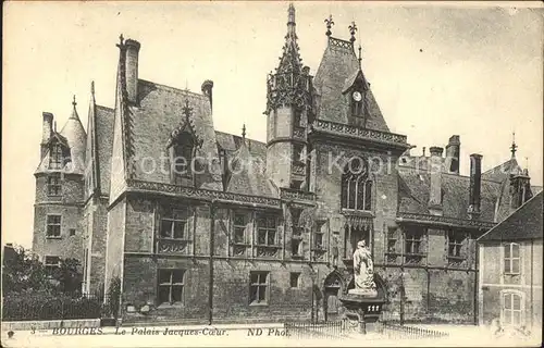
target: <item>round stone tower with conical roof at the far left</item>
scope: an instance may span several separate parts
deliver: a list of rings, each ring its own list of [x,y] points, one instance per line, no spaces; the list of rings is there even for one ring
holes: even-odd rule
[[[60,259],[82,262],[83,232],[79,225],[84,201],[84,166],[86,134],[76,110],[62,130],[57,132],[54,115],[44,113],[41,161],[34,173],[36,196],[33,251],[48,266]]]

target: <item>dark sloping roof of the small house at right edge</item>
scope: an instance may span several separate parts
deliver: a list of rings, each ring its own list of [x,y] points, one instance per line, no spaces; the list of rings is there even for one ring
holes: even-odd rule
[[[535,195],[478,241],[543,239],[542,196],[542,191]]]

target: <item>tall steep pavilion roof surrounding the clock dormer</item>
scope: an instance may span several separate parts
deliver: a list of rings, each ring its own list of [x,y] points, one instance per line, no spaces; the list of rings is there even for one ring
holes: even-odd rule
[[[349,97],[344,96],[343,91],[353,85],[359,70],[359,61],[353,44],[330,37],[313,79],[319,100],[318,119],[358,125],[358,120],[348,114]],[[364,74],[362,72],[361,74],[364,78]],[[390,132],[370,87],[366,98],[369,110],[369,120],[366,126],[371,129]]]

